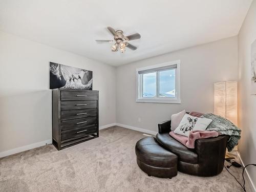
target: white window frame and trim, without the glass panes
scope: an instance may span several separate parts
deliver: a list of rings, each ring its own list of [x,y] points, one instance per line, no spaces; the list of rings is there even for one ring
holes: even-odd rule
[[[159,97],[159,77],[157,73],[156,79],[156,94],[157,97],[143,97],[143,77],[139,74],[139,71],[157,69],[160,67],[177,65],[175,74],[175,97]],[[153,102],[153,103],[181,103],[180,100],[180,60],[164,62],[154,66],[147,66],[136,69],[136,102]]]

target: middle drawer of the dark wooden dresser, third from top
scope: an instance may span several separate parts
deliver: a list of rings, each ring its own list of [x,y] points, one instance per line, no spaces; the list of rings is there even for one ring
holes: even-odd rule
[[[61,111],[61,121],[70,119],[80,119],[85,117],[97,116],[97,108],[85,110]]]

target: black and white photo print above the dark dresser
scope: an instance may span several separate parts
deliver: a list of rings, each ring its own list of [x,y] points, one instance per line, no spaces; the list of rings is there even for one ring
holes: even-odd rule
[[[50,89],[93,89],[93,72],[50,62]]]

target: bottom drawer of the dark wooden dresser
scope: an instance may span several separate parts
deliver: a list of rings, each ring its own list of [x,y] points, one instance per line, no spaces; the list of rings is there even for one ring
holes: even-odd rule
[[[71,138],[77,139],[95,132],[97,132],[96,125],[83,126],[72,130],[61,131],[61,141],[65,141]]]

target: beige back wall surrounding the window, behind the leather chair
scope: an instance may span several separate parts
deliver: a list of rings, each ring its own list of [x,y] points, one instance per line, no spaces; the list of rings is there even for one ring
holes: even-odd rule
[[[230,37],[118,67],[117,123],[156,132],[159,122],[181,110],[214,112],[214,82],[238,79],[237,43],[237,36]],[[136,68],[178,59],[181,60],[181,104],[135,102]]]

